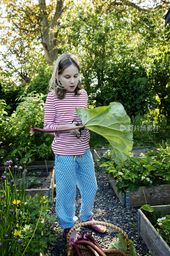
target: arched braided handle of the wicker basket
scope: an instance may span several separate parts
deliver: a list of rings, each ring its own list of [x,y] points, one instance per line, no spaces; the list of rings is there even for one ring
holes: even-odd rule
[[[130,253],[130,241],[129,241],[128,235],[124,232],[124,230],[122,228],[119,228],[119,227],[113,225],[113,224],[110,224],[110,223],[107,223],[107,222],[103,222],[103,221],[96,221],[96,220],[94,220],[94,221],[85,221],[85,222],[78,223],[73,228],[70,229],[70,231],[68,233],[68,236],[67,236],[67,251],[69,250],[69,247],[70,247],[69,239],[70,239],[71,233],[74,231],[74,229],[80,228],[80,227],[85,226],[85,225],[103,225],[103,226],[106,226],[108,228],[116,229],[118,232],[120,232],[124,236],[124,238],[127,241],[126,256],[129,256],[129,253]]]

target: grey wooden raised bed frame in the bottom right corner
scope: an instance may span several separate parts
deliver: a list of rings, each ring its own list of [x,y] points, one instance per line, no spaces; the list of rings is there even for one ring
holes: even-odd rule
[[[163,216],[170,213],[170,204],[152,207],[154,211],[162,211]],[[153,256],[170,256],[170,247],[152,226],[141,209],[138,209],[138,233]]]

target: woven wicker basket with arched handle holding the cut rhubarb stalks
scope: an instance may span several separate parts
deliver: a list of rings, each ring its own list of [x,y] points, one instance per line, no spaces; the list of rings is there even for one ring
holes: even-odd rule
[[[125,239],[127,241],[127,251],[124,252],[123,250],[120,250],[120,249],[103,249],[103,251],[105,252],[105,254],[107,256],[129,256],[130,241],[129,241],[127,234],[121,228],[119,228],[115,225],[112,225],[110,223],[107,223],[107,222],[102,222],[102,221],[81,222],[81,223],[78,223],[77,225],[75,225],[72,229],[70,229],[68,236],[67,236],[67,256],[77,256],[77,254],[74,250],[74,247],[70,246],[70,244],[69,244],[69,238],[74,229],[80,228],[84,225],[103,225],[103,226],[113,228],[113,229],[116,229],[117,231],[119,231],[125,237]],[[79,248],[79,251],[82,256],[93,256],[93,254],[89,251],[89,249],[86,248],[84,245],[77,244],[77,247]]]

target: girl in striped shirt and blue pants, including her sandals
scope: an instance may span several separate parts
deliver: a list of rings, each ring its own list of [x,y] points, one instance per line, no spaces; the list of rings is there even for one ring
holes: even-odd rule
[[[44,129],[62,129],[75,127],[80,117],[75,107],[87,108],[87,92],[81,89],[79,79],[80,64],[73,54],[63,54],[55,62],[52,78],[49,82],[50,91],[45,103]],[[76,185],[81,192],[80,220],[90,221],[92,207],[97,190],[93,158],[89,149],[89,131],[84,128],[67,132],[55,132],[52,150],[55,154],[56,180],[56,214],[64,236],[78,218],[75,216]],[[90,225],[100,233],[106,227]],[[74,231],[70,242],[76,237]]]

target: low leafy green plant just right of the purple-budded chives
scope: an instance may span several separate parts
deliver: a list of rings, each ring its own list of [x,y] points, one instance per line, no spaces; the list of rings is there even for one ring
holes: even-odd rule
[[[24,226],[23,232],[20,236],[24,241],[23,249],[25,249],[26,245],[28,244],[36,227],[41,204],[43,206],[41,214],[45,218],[46,223],[45,224],[44,222],[39,221],[39,226],[36,229],[36,233],[34,234],[32,241],[26,250],[26,255],[28,256],[32,256],[32,254],[34,254],[35,252],[44,253],[48,247],[48,244],[53,244],[53,242],[56,240],[50,228],[50,222],[55,221],[56,217],[48,214],[49,202],[46,197],[47,196],[39,197],[38,195],[36,195],[35,197],[30,198],[30,200],[25,204],[23,218],[27,225]],[[41,220],[42,219],[43,218],[41,218]]]

